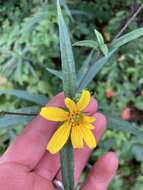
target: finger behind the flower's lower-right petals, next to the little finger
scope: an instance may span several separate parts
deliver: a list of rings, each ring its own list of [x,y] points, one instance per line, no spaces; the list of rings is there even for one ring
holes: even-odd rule
[[[97,112],[96,114],[93,115],[96,118],[96,121],[94,122],[94,125],[96,126],[94,132],[95,138],[97,140],[97,143],[99,142],[104,129],[106,127],[106,118],[103,114]],[[75,184],[78,183],[80,175],[82,170],[84,169],[89,156],[91,154],[92,150],[89,149],[88,147],[85,147],[83,149],[76,149],[75,150],[75,169],[74,169],[74,178],[75,178]],[[61,180],[61,173],[59,173],[56,176],[57,179]]]

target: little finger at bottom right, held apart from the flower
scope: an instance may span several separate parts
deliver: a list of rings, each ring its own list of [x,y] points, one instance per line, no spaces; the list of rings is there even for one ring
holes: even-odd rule
[[[102,156],[91,169],[82,190],[96,189],[107,190],[118,167],[117,155],[108,152]]]

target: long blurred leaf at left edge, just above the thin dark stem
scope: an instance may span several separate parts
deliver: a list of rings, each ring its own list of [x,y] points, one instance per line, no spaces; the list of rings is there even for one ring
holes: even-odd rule
[[[48,102],[48,98],[44,95],[32,94],[25,90],[0,90],[0,95],[8,94],[18,98],[34,102],[39,105],[45,105]]]

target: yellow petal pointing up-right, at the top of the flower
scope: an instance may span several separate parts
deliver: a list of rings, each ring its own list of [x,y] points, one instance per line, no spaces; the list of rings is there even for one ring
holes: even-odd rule
[[[77,102],[77,107],[80,111],[85,109],[90,102],[90,93],[88,90],[83,90],[80,100]]]

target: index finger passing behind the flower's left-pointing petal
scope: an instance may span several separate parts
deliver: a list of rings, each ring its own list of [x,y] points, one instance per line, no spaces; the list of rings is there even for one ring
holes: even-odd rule
[[[55,96],[48,103],[48,106],[65,107],[64,94],[60,93]],[[47,121],[38,115],[11,144],[1,158],[0,163],[18,162],[27,166],[30,170],[35,168],[46,152],[47,142],[56,128],[56,122]]]

